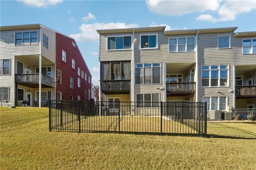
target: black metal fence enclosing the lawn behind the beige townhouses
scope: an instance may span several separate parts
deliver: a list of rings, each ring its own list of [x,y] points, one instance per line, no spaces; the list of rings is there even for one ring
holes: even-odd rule
[[[206,103],[49,101],[49,131],[206,135]]]

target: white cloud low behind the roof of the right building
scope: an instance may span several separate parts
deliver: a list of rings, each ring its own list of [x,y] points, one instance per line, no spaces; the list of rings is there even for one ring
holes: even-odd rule
[[[136,28],[137,24],[126,25],[125,23],[94,23],[94,24],[82,24],[79,26],[81,33],[70,34],[69,36],[76,41],[82,42],[98,42],[99,35],[96,30],[118,29],[118,28]]]

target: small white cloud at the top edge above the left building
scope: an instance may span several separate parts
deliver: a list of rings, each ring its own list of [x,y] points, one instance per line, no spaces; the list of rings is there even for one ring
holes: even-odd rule
[[[63,0],[18,0],[27,6],[35,6],[38,8],[47,8],[48,6],[54,6],[61,3]]]

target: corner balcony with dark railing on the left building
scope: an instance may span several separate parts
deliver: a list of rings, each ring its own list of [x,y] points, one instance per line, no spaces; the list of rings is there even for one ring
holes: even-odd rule
[[[15,74],[15,83],[26,87],[39,88],[39,73]],[[42,74],[42,88],[48,87],[55,87],[55,79]]]

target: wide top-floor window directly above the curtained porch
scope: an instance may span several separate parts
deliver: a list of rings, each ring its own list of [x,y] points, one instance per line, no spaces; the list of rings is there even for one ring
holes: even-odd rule
[[[131,49],[132,36],[108,37],[108,49]]]

